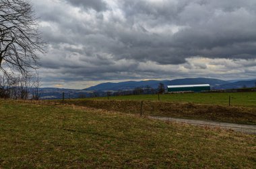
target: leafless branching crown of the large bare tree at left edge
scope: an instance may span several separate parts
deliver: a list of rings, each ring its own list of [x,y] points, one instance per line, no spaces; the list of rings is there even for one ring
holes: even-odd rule
[[[0,68],[27,73],[38,66],[45,43],[28,0],[0,0]]]

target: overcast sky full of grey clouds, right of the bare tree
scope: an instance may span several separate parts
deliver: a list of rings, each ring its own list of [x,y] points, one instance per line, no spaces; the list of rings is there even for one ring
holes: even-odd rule
[[[42,87],[255,79],[255,0],[30,0],[49,43]]]

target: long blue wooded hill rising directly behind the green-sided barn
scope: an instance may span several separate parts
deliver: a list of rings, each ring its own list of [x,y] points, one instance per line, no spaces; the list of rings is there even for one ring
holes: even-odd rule
[[[189,85],[189,84],[210,84],[210,86],[220,86],[229,81],[212,78],[186,78],[186,79],[174,79],[174,80],[148,80],[148,81],[123,81],[119,83],[100,83],[96,86],[86,88],[85,90],[96,91],[118,91],[118,90],[133,90],[137,87],[150,86],[151,88],[158,88],[159,83],[164,83],[164,86],[168,85]]]

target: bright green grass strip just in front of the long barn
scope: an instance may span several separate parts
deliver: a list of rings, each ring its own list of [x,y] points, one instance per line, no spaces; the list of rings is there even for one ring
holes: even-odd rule
[[[199,104],[228,105],[231,96],[232,106],[256,107],[256,92],[238,93],[195,93],[195,94],[161,94],[160,100],[165,102],[192,102]],[[158,95],[110,96],[110,100],[158,100]],[[107,98],[92,98],[106,100]]]

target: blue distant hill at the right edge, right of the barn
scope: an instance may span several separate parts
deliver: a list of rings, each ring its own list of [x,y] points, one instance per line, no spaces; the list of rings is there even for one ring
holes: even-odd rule
[[[238,89],[238,88],[253,88],[255,87],[256,79],[248,80],[248,81],[235,81],[233,83],[226,83],[220,86],[215,86],[214,89],[221,90],[221,89]]]

